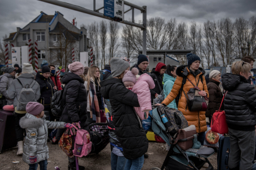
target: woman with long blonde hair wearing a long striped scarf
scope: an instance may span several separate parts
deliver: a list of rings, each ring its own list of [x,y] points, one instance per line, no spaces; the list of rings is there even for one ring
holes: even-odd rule
[[[100,69],[93,65],[89,68],[84,86],[88,91],[87,95],[87,114],[88,124],[106,122],[104,116],[104,103],[100,94]]]

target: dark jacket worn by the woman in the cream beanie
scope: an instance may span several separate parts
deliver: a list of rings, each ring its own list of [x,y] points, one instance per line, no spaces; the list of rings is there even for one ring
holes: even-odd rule
[[[209,91],[209,104],[206,111],[206,116],[212,116],[216,110],[219,110],[219,106],[221,106],[221,101],[223,99],[223,94],[221,93],[221,88],[219,88],[218,82],[214,79],[210,79],[207,84],[207,89]],[[221,110],[223,110],[223,105],[221,106]]]

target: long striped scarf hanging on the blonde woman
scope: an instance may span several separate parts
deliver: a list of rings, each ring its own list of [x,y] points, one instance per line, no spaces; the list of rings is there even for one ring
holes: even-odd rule
[[[98,98],[96,96],[95,85],[90,82],[89,87],[89,99],[90,99],[90,115],[96,123],[100,123],[100,106],[98,105]]]

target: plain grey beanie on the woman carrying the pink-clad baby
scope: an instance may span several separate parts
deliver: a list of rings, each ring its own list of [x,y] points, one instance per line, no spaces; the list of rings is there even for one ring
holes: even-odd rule
[[[130,67],[130,64],[125,60],[119,58],[112,58],[110,60],[110,67],[112,77],[117,77],[122,74],[128,67]]]

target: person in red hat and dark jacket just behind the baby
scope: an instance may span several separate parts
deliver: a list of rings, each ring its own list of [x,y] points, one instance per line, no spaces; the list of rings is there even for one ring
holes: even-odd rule
[[[163,90],[163,74],[165,74],[167,67],[162,62],[158,62],[156,68],[151,71],[150,76],[154,81],[154,89],[150,89],[151,93],[151,103],[153,104],[153,99],[156,98]]]

